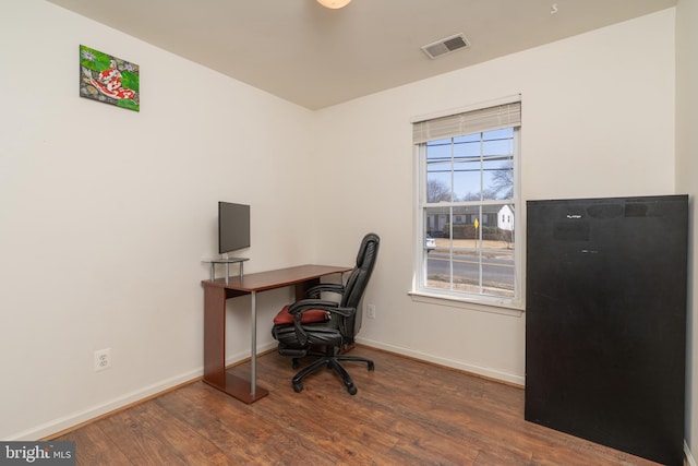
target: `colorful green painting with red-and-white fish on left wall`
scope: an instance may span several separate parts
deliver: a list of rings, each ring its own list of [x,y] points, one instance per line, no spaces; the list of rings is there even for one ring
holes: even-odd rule
[[[80,46],[80,96],[141,110],[137,64]]]

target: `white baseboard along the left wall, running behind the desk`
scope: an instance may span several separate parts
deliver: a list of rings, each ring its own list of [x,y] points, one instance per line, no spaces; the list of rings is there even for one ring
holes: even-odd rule
[[[264,353],[276,347],[277,343],[272,342],[264,345],[260,345],[257,347],[258,353]],[[241,351],[236,355],[229,356],[226,358],[226,366],[234,365],[250,357],[250,351]],[[104,416],[108,413],[122,408],[124,406],[141,402],[143,399],[149,398],[158,393],[166,392],[177,385],[182,385],[186,382],[194,381],[204,375],[203,366],[191,370],[189,372],[184,372],[182,374],[161,380],[159,382],[153,383],[151,385],[134,390],[133,392],[125,393],[116,398],[106,401],[105,403],[100,403],[99,405],[95,405],[88,407],[82,411],[71,413],[67,416],[51,419],[40,426],[33,427],[22,432],[16,432],[4,440],[8,441],[35,441],[38,439],[45,439],[49,435],[53,435],[58,432],[68,430],[72,427],[79,426],[81,423],[87,422],[92,419],[98,418],[99,416]]]

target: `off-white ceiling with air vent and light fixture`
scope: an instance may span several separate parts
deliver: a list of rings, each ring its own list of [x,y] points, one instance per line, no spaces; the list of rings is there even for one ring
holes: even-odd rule
[[[315,0],[48,1],[310,109],[676,4],[676,0],[353,0],[344,9],[328,10]],[[420,49],[458,33],[466,35],[470,48],[436,60]]]

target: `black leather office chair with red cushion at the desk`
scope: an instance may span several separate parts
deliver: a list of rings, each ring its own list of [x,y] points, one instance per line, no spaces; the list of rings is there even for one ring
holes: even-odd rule
[[[327,367],[337,371],[349,393],[354,395],[357,387],[339,361],[365,362],[370,371],[374,370],[371,359],[340,353],[353,344],[353,338],[359,332],[359,304],[375,265],[380,241],[375,234],[369,234],[363,238],[357,254],[357,265],[346,285],[314,286],[308,290],[308,299],[285,307],[274,319],[272,335],[279,342],[279,354],[293,358],[293,369],[298,368],[301,358],[317,358],[293,377],[296,392],[303,390],[301,381],[305,375]],[[320,299],[321,294],[327,291],[340,295],[341,299],[338,302]],[[316,351],[317,347],[324,347],[324,353]]]

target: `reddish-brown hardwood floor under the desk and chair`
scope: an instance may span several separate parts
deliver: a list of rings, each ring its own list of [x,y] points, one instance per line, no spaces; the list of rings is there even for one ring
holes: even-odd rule
[[[524,391],[358,346],[373,358],[294,393],[288,358],[257,360],[269,395],[252,405],[194,382],[56,440],[79,465],[653,465],[524,420]],[[232,369],[249,373],[249,363]]]

